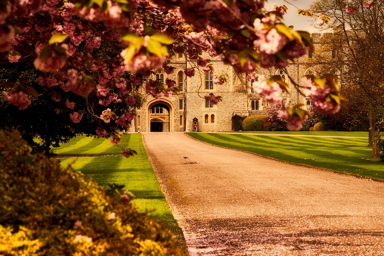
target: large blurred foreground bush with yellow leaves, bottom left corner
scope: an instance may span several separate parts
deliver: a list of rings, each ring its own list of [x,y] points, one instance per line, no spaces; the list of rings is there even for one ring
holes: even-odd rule
[[[31,155],[18,132],[0,131],[0,141],[0,255],[181,254],[129,192]]]

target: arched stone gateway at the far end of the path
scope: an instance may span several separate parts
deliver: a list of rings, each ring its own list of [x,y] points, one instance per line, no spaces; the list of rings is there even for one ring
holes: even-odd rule
[[[173,131],[173,104],[165,99],[155,99],[147,104],[147,131]]]

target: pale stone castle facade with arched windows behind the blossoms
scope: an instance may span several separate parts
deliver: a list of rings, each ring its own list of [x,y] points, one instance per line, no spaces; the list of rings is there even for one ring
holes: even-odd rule
[[[313,34],[314,46],[321,35]],[[247,74],[238,74],[232,66],[224,64],[219,57],[211,58],[208,53],[200,53],[202,58],[210,59],[212,70],[204,72],[196,63],[186,61],[185,56],[179,54],[171,59],[170,66],[174,67],[174,73],[167,75],[161,68],[155,70],[152,79],[161,82],[172,79],[180,92],[171,97],[160,97],[155,99],[150,94],[146,94],[145,88],[142,93],[147,101],[143,106],[136,110],[134,120],[135,131],[151,132],[183,132],[192,131],[193,124],[197,124],[198,132],[219,132],[232,130],[232,116],[266,114],[266,102],[262,96],[251,89],[251,83],[247,81]],[[265,78],[273,75],[285,77],[285,81],[290,85],[290,93],[282,92],[285,100],[295,105],[304,104],[304,108],[310,104],[310,99],[304,97],[288,79],[301,85],[305,74],[313,72],[310,68],[312,53],[302,56],[290,62],[285,70],[282,69],[257,69],[255,72],[262,74]],[[186,77],[184,70],[195,68],[195,76]],[[213,84],[213,75],[220,76],[227,74],[227,82],[222,85]],[[145,85],[144,85],[145,86]],[[209,102],[209,94],[222,96],[222,101],[217,105]]]

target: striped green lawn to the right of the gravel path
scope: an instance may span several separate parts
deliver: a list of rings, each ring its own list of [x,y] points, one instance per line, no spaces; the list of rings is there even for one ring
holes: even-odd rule
[[[287,132],[283,133],[287,134]],[[302,132],[298,133],[303,134]],[[309,133],[312,135],[325,134],[343,137],[298,137],[200,132],[187,134],[197,140],[221,147],[252,152],[290,163],[310,165],[336,172],[384,180],[384,162],[371,158],[372,148],[366,147],[368,144],[367,132]],[[292,132],[292,134],[296,133]],[[347,136],[355,138],[347,138]],[[309,160],[310,158],[316,160]],[[370,159],[370,161],[361,160],[362,158]]]

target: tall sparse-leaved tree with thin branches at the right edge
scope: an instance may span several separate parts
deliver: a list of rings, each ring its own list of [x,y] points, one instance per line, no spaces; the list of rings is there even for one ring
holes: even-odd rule
[[[356,12],[348,15],[347,5]],[[317,0],[311,5],[313,13],[331,20],[316,47],[314,69],[319,74],[334,73],[348,95],[349,107],[367,114],[372,157],[380,154],[379,121],[384,114],[383,8],[382,0],[369,9],[360,0]]]

